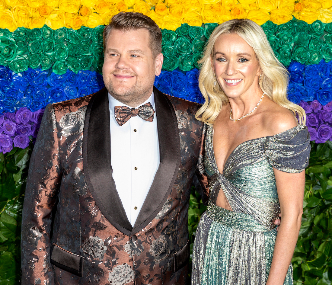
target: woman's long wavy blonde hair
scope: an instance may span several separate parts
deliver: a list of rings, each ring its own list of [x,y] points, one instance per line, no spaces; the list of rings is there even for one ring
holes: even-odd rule
[[[196,119],[212,125],[222,105],[228,103],[228,98],[219,84],[213,87],[214,77],[211,67],[213,47],[217,38],[222,34],[237,34],[254,49],[262,71],[260,87],[263,92],[280,106],[289,109],[300,124],[305,124],[303,108],[287,99],[288,70],[274,55],[263,29],[249,19],[234,19],[222,23],[214,29],[207,41],[203,57],[199,60],[199,63],[202,63],[199,86],[205,103],[196,113]]]

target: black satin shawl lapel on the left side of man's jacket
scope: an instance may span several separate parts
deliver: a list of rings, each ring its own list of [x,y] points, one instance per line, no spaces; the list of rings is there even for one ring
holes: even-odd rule
[[[94,94],[85,114],[83,169],[100,211],[120,232],[129,236],[132,226],[124,211],[111,166],[110,109],[106,88]]]

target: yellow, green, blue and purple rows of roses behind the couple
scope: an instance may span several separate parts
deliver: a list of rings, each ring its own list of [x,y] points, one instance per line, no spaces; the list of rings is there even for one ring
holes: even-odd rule
[[[210,33],[230,19],[255,21],[290,72],[289,98],[304,108],[311,140],[332,140],[331,7],[331,0],[0,0],[0,152],[16,152],[14,164],[24,169],[20,161],[29,155],[21,149],[35,140],[43,108],[104,87],[103,28],[120,11],[142,12],[162,29],[164,64],[156,87],[197,102],[203,102],[197,60]],[[20,235],[10,228],[19,212],[5,216],[10,200],[4,189],[21,183],[15,175],[0,187],[2,258],[9,251],[1,247],[8,240],[2,228],[14,239]],[[19,260],[8,256],[8,262]],[[8,275],[1,266],[0,276]],[[7,277],[16,284],[17,277]]]

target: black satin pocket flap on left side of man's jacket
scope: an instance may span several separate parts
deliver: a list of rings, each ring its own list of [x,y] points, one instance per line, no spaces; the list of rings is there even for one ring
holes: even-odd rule
[[[84,257],[71,253],[53,243],[51,247],[51,264],[72,274],[83,276]]]

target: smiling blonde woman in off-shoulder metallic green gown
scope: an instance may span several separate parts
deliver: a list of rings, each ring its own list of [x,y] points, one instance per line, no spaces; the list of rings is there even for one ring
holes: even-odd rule
[[[218,26],[201,63],[210,198],[192,284],[293,284],[310,136],[304,110],[287,99],[287,69],[248,19]]]

